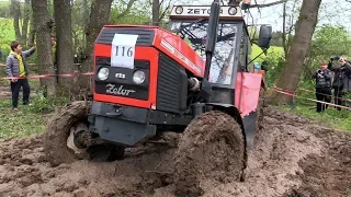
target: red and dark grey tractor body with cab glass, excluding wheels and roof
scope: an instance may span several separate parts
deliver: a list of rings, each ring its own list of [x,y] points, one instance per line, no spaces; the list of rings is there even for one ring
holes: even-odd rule
[[[211,96],[202,100],[201,92],[188,89],[190,78],[204,78],[207,25],[206,20],[197,23],[174,20],[169,31],[131,25],[103,27],[94,45],[95,71],[107,68],[110,76],[103,81],[95,76],[90,130],[104,140],[134,146],[158,130],[184,129],[196,115],[193,104],[201,102],[204,103],[197,106],[203,108],[201,112],[206,111],[206,103],[236,108],[242,118],[244,135],[251,138],[254,127],[250,126],[256,119],[250,114],[257,108],[261,74],[246,72],[249,48],[245,46],[249,37],[244,21],[219,21],[208,79]],[[194,30],[191,31],[194,36],[188,36],[192,45],[174,34],[174,31],[190,34],[190,30]],[[115,34],[138,35],[134,69],[111,67],[111,42]],[[137,70],[146,73],[141,84],[132,80]],[[155,116],[161,121],[154,120]]]

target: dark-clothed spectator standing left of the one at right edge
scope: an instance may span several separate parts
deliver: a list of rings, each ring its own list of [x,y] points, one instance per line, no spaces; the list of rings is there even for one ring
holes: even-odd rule
[[[320,62],[320,69],[312,74],[316,79],[316,97],[318,101],[330,103],[331,101],[331,72],[326,61]],[[317,113],[325,112],[328,105],[317,102]]]

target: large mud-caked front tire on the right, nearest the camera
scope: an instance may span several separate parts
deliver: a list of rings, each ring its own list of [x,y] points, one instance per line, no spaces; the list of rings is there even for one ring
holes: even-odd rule
[[[212,183],[240,181],[245,166],[245,141],[240,125],[222,112],[207,112],[191,121],[174,159],[178,196],[201,196]]]

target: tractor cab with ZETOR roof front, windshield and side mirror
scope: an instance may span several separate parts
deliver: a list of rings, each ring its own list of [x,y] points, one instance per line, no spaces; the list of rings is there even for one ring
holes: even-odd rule
[[[183,38],[203,60],[211,7],[176,5],[170,14],[168,30]],[[262,28],[263,27],[263,28]],[[270,26],[262,26],[259,46],[269,47]],[[217,39],[213,51],[208,82],[213,94],[212,103],[235,103],[235,91],[239,72],[254,72],[248,68],[251,39],[239,5],[222,5],[219,11]],[[261,83],[259,80],[258,83]],[[238,93],[239,94],[239,93]]]

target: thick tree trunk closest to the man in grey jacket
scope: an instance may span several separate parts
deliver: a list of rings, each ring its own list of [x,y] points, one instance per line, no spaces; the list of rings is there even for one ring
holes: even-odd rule
[[[47,10],[47,0],[32,0],[33,21],[36,30],[36,45],[39,65],[39,73],[54,74],[54,62],[50,45],[53,20]],[[56,79],[46,78],[41,80],[44,86],[44,95],[56,95]]]

